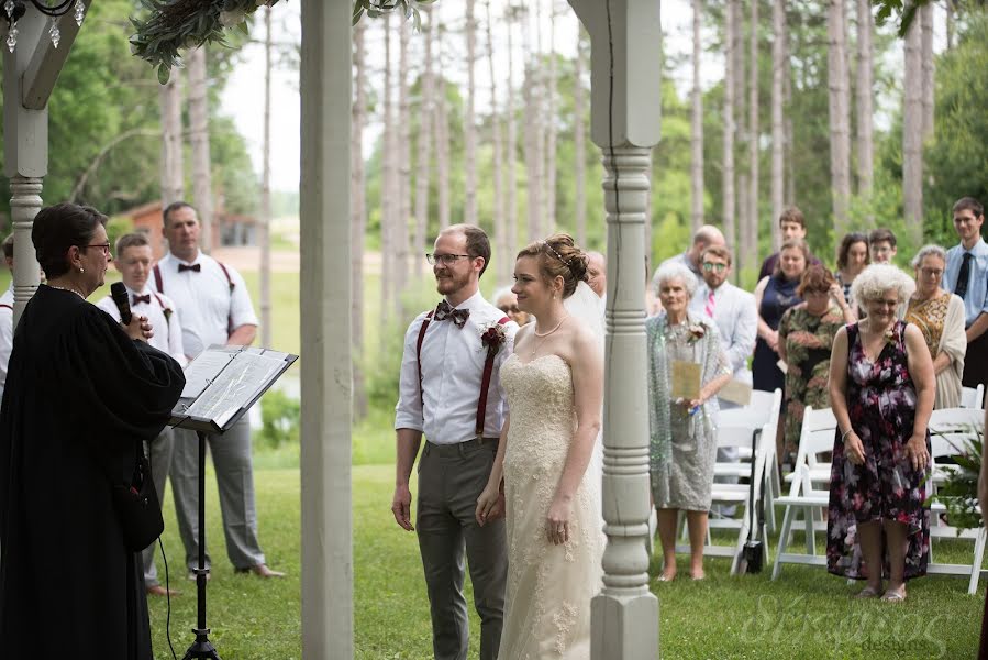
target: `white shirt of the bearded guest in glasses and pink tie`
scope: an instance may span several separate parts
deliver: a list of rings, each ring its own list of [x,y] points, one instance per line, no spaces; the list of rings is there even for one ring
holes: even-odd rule
[[[709,295],[710,287],[703,282],[689,301],[689,310],[707,318]],[[713,290],[713,320],[720,331],[721,345],[728,353],[728,362],[734,376],[744,380],[748,374],[747,359],[755,350],[755,338],[758,333],[755,297],[730,282],[724,282]]]

